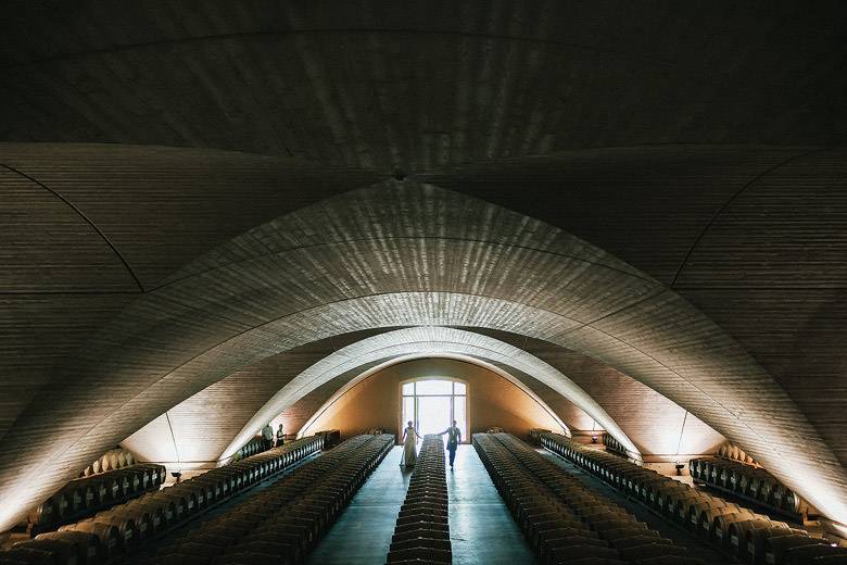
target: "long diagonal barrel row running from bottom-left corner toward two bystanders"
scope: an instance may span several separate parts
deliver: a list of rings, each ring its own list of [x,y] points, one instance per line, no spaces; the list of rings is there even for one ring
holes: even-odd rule
[[[39,541],[43,539],[55,542],[53,544],[58,547],[58,544],[79,545],[83,543],[80,540],[90,540],[90,537],[93,537],[97,542],[91,542],[89,545],[97,548],[97,557],[114,558],[134,551],[149,539],[181,526],[211,505],[228,500],[265,477],[280,473],[312,453],[320,451],[323,444],[323,437],[304,438],[212,469],[184,482],[148,491],[139,498],[99,512],[90,518],[62,526],[53,535],[37,536],[35,540],[15,545],[11,552],[0,552],[0,564],[21,561],[22,554],[35,555],[33,553],[35,550],[31,548],[39,543],[43,545],[43,542]],[[164,474],[160,474],[159,478],[161,485]],[[91,551],[90,548],[87,551]],[[41,562],[25,561],[25,563]]]

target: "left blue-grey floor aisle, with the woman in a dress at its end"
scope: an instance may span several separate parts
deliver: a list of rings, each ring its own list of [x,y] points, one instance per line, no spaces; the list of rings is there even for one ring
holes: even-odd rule
[[[308,556],[307,565],[383,565],[410,473],[402,473],[403,448],[391,450]]]

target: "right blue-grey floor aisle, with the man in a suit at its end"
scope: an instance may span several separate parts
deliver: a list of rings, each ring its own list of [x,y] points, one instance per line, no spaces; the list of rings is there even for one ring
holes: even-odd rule
[[[455,470],[447,467],[447,492],[454,565],[536,563],[471,445],[459,445]]]

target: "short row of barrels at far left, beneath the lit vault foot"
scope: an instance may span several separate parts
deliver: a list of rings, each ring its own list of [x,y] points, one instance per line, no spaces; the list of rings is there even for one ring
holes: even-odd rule
[[[165,467],[149,463],[74,479],[29,513],[30,530],[55,529],[156,490],[164,480]]]

